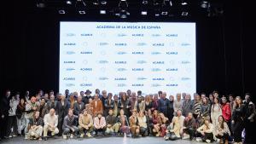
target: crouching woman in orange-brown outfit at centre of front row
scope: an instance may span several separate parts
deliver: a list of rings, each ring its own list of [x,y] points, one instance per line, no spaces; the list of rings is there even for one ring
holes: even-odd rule
[[[132,110],[132,115],[129,118],[129,123],[130,123],[131,136],[132,137],[138,136],[140,133],[140,126],[138,125],[136,109]]]

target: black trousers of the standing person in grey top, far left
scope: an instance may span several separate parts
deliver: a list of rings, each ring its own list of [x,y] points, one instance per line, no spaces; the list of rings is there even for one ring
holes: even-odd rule
[[[8,126],[7,126],[7,133],[6,136],[11,134],[11,129],[13,128],[13,135],[18,134],[18,125],[17,125],[17,118],[16,116],[9,116],[8,117]]]

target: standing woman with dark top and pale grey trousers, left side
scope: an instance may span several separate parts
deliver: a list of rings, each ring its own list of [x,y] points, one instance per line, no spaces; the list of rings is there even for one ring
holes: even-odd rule
[[[25,118],[25,110],[26,110],[26,103],[25,99],[21,98],[20,103],[17,106],[16,116],[18,120],[18,134],[22,135],[22,130],[26,128],[26,118]]]

